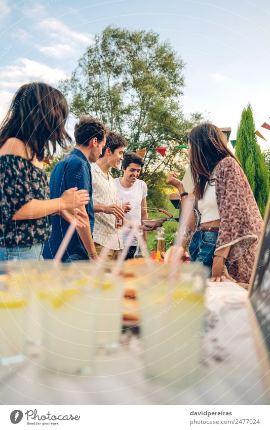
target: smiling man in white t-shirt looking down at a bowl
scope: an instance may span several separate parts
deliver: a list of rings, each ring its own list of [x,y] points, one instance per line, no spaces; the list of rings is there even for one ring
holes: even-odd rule
[[[118,197],[123,198],[123,202],[129,202],[131,210],[125,214],[125,219],[141,225],[141,220],[148,219],[147,214],[147,185],[138,179],[144,165],[143,159],[136,152],[126,152],[122,162],[123,176],[116,178]],[[144,240],[147,240],[147,232],[143,233]],[[128,233],[123,236],[124,245]],[[133,238],[126,259],[133,258],[136,251],[137,238]]]

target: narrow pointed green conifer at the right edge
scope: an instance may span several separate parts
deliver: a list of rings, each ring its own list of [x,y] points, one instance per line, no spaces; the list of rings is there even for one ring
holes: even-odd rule
[[[236,155],[250,183],[260,213],[263,216],[269,192],[267,165],[257,143],[251,104],[244,107],[236,138]]]

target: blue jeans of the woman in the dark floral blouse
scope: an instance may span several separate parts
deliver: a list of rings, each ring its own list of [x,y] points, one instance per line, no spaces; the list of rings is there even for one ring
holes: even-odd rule
[[[32,246],[0,247],[0,261],[7,260],[43,260],[44,244],[34,244]]]

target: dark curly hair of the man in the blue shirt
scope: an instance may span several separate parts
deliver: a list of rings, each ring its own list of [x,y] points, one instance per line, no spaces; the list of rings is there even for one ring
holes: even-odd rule
[[[75,125],[74,137],[77,145],[88,146],[89,140],[93,137],[101,142],[107,136],[107,129],[100,121],[88,116],[82,116],[78,124]]]

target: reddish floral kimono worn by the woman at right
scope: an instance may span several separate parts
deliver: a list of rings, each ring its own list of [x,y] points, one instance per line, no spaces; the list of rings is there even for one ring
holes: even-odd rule
[[[217,164],[215,192],[220,218],[215,252],[230,246],[229,275],[249,283],[263,221],[248,180],[233,157]],[[197,202],[194,211],[197,227],[201,221]]]

